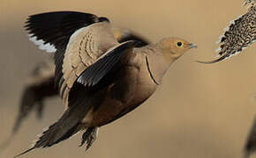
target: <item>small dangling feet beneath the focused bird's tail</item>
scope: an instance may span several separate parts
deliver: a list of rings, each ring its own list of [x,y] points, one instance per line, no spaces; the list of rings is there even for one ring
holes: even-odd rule
[[[79,147],[83,146],[87,142],[86,150],[91,147],[94,141],[97,139],[99,127],[89,127],[87,131],[83,133],[82,141]]]

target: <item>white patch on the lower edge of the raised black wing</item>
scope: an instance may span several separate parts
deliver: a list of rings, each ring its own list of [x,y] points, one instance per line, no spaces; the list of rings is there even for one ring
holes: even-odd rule
[[[35,45],[39,46],[39,48],[41,50],[45,50],[48,53],[56,52],[56,47],[54,47],[54,45],[51,45],[49,43],[45,43],[45,41],[42,40],[42,39],[38,40],[37,37],[34,36],[33,34],[30,34],[28,36],[29,36],[29,40],[33,41]]]

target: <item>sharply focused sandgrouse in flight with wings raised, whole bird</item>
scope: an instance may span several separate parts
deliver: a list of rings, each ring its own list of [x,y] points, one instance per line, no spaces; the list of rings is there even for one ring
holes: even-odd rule
[[[118,42],[108,18],[75,11],[30,16],[26,30],[39,48],[55,52],[55,83],[65,110],[21,154],[84,130],[80,146],[87,143],[88,149],[101,126],[145,102],[169,66],[196,47],[174,37],[145,47],[136,47],[136,40]]]

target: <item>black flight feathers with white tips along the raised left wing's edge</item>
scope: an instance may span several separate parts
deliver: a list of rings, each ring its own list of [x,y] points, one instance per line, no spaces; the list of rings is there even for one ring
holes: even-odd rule
[[[25,28],[34,44],[39,45],[41,49],[49,50],[49,52],[56,52],[56,84],[60,82],[63,75],[64,52],[72,34],[82,27],[101,21],[109,20],[77,11],[41,13],[29,16],[26,20]]]

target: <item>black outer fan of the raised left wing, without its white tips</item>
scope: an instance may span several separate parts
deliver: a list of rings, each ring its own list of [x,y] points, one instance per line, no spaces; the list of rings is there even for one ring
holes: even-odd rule
[[[77,11],[56,11],[29,16],[26,30],[31,37],[44,40],[56,48],[65,47],[72,33],[79,28],[99,22],[94,14]]]

